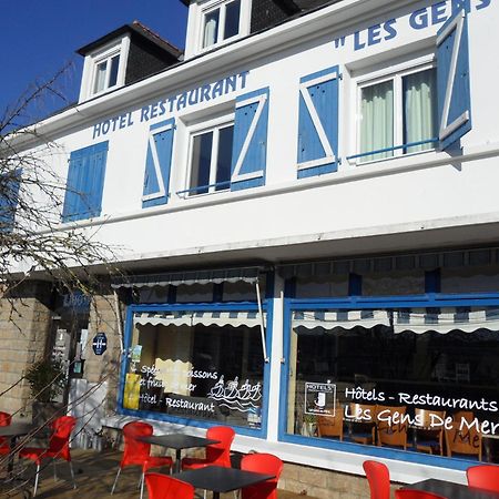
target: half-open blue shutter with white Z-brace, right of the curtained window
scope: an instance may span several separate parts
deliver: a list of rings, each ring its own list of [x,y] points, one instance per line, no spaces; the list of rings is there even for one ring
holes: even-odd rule
[[[440,149],[445,151],[471,130],[468,19],[455,14],[437,33],[437,94]]]

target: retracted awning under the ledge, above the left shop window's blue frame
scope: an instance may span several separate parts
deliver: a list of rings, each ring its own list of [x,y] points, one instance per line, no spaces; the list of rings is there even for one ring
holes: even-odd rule
[[[120,287],[154,287],[180,286],[181,284],[221,284],[221,283],[256,283],[258,273],[263,267],[218,268],[208,271],[172,272],[165,274],[145,274],[114,277],[111,281],[113,288]]]

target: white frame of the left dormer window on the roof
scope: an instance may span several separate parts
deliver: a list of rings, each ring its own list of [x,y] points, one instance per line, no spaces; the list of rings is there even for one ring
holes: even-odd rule
[[[129,51],[130,51],[130,35],[126,34],[123,38],[100,48],[98,51],[89,53],[85,57],[79,102],[85,101],[86,99],[93,99],[95,96],[103,95],[110,90],[114,90],[124,85]],[[95,86],[98,65],[104,61],[111,61],[111,59],[115,55],[120,55],[116,83],[111,88],[109,86],[111,64],[108,64],[106,84],[103,90],[94,92],[93,89]]]

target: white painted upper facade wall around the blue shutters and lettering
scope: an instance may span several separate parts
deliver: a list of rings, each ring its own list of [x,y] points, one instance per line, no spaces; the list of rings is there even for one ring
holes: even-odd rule
[[[397,234],[428,227],[467,226],[499,221],[496,184],[499,171],[499,100],[491,82],[499,79],[499,67],[490,63],[488,47],[493,45],[493,27],[499,9],[482,0],[472,1],[469,14],[470,73],[473,128],[462,140],[462,155],[451,157],[442,152],[356,165],[345,160],[356,152],[355,79],[366,69],[387,70],[395,63],[428,58],[434,51],[438,27],[415,30],[409,17],[427,2],[385,1],[376,17],[360,23],[316,30],[327,13],[340,19],[342,9],[354,1],[340,2],[310,16],[284,24],[274,31],[252,37],[240,44],[194,60],[174,71],[103,96],[98,113],[95,102],[81,105],[72,120],[74,128],[57,140],[65,154],[101,140],[109,140],[102,217],[99,237],[124,247],[123,258],[134,259],[182,254],[207,254],[252,246],[286,245],[291,238],[301,242],[361,237],[367,234]],[[357,2],[361,3],[361,2]],[[450,3],[450,2],[448,2]],[[478,9],[482,7],[481,9]],[[449,7],[447,7],[448,9]],[[477,10],[478,9],[478,10]],[[338,13],[339,12],[339,13]],[[431,12],[426,8],[425,12]],[[419,14],[417,19],[424,19]],[[397,37],[361,50],[355,50],[355,32],[365,42],[368,27],[395,19]],[[352,20],[350,20],[352,21]],[[322,21],[324,23],[324,20]],[[295,26],[292,26],[295,24]],[[322,24],[320,24],[322,26]],[[306,35],[279,44],[286,29]],[[381,28],[383,30],[383,28]],[[314,34],[318,33],[317,38]],[[286,33],[285,33],[286,34]],[[287,35],[287,34],[286,34]],[[345,45],[335,48],[333,40],[345,35]],[[237,52],[251,52],[258,43],[274,41],[273,51],[255,51],[236,63],[225,64]],[[208,61],[210,60],[210,61]],[[210,63],[208,63],[210,62]],[[339,64],[340,82],[338,172],[320,177],[296,179],[296,144],[299,78]],[[214,101],[187,105],[173,113],[141,122],[141,108],[182,91],[215,82],[231,74],[249,71],[246,85]],[[185,75],[183,79],[182,75]],[[184,81],[179,84],[179,81]],[[156,91],[161,82],[163,90]],[[171,82],[171,83],[170,83]],[[186,189],[189,125],[212,113],[231,110],[237,94],[269,86],[269,119],[266,185],[264,187],[195,196],[189,200],[175,193]],[[147,92],[147,86],[151,92]],[[240,85],[241,86],[241,85]],[[134,91],[135,90],[135,91]],[[122,93],[128,105],[120,105]],[[133,102],[133,96],[140,100]],[[116,102],[116,106],[113,106]],[[109,118],[132,113],[133,125],[93,138],[94,125]],[[142,185],[145,167],[149,126],[164,119],[176,118],[171,200],[167,205],[142,210]],[[62,123],[64,114],[51,126]],[[67,118],[68,119],[68,118]],[[84,122],[84,124],[82,124]],[[65,126],[64,130],[68,130]],[[71,129],[69,129],[71,130]],[[59,151],[55,166],[65,174],[67,156]],[[146,215],[146,216],[145,216]],[[461,241],[461,243],[465,243]],[[345,248],[348,251],[348,247]],[[352,247],[354,251],[355,248]],[[395,249],[395,247],[394,247]],[[299,253],[299,252],[298,252]]]

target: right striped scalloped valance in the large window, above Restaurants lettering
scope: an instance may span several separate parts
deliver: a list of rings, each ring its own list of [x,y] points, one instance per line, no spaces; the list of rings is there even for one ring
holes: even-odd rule
[[[475,333],[478,329],[499,332],[499,309],[427,308],[394,312],[394,333],[406,330],[421,335],[434,330],[442,335],[451,330]]]

